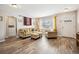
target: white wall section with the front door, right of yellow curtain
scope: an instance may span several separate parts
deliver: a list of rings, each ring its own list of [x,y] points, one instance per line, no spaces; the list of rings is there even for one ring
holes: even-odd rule
[[[57,15],[57,32],[59,36],[76,37],[77,15],[76,11],[65,12]]]

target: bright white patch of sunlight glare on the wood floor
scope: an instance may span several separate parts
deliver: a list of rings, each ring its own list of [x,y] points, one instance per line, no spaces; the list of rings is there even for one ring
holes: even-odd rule
[[[45,36],[40,39],[37,46],[40,50],[38,53],[58,53],[57,48],[51,47],[48,39]]]

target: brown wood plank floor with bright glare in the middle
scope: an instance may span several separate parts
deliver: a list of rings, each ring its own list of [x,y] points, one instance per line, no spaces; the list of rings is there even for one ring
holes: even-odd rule
[[[76,40],[58,37],[38,40],[9,38],[0,43],[0,54],[72,54],[79,53]]]

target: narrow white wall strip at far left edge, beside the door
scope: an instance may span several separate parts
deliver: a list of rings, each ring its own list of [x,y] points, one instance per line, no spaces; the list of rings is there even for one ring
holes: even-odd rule
[[[0,42],[3,42],[5,41],[5,29],[6,29],[6,26],[5,26],[5,17],[2,17],[2,21],[0,21]]]

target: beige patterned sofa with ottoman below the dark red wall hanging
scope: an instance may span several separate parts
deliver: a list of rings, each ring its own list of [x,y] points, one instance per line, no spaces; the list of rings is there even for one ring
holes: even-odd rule
[[[20,38],[31,37],[31,38],[37,39],[42,36],[42,32],[33,31],[32,28],[22,28],[18,30],[18,36]]]

